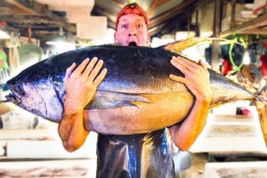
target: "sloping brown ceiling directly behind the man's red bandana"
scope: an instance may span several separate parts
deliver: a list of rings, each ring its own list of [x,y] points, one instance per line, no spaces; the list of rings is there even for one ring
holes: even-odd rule
[[[108,17],[109,27],[115,28],[117,13],[131,1],[123,0],[97,0],[93,7],[92,14],[103,15]],[[157,35],[163,28],[170,29],[172,21],[177,18],[178,14],[187,12],[190,5],[197,2],[196,0],[136,0],[142,9],[147,12],[150,20],[150,33]],[[107,5],[109,4],[109,5]],[[180,19],[181,20],[181,19]]]

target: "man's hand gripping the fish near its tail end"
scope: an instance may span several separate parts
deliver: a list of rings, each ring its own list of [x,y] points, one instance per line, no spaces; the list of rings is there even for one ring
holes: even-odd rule
[[[209,73],[203,61],[196,64],[182,57],[173,56],[171,63],[185,76],[178,77],[171,74],[169,77],[172,80],[186,85],[198,101],[210,102],[212,100],[213,91],[209,84]]]

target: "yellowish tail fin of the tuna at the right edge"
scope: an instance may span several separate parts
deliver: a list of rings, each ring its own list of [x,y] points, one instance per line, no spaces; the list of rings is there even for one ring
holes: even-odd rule
[[[267,85],[264,85],[255,97],[255,106],[258,111],[264,142],[267,146]]]

